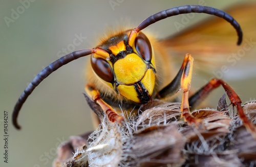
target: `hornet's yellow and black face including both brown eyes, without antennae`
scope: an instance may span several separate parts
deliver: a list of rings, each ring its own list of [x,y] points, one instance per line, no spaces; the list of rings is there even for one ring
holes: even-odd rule
[[[91,57],[96,76],[122,97],[139,104],[148,103],[155,87],[155,57],[150,41],[138,33],[133,47],[128,44],[129,33],[111,37]]]

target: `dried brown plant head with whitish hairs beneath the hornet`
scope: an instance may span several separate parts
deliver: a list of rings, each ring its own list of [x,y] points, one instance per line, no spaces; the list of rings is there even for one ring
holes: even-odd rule
[[[229,116],[233,114],[229,114],[225,96],[219,111],[192,113],[203,119],[198,127],[179,119],[180,103],[155,100],[142,108],[148,108],[142,114],[120,125],[111,123],[99,106],[87,101],[101,124],[89,136],[73,137],[61,145],[53,166],[256,165],[256,140],[239,116]],[[243,110],[255,124],[256,102],[245,103]]]

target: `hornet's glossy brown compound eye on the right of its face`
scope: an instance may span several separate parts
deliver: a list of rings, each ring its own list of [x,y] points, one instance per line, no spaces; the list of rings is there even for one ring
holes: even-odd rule
[[[139,35],[135,39],[135,49],[137,53],[145,60],[150,62],[152,59],[152,47],[150,44],[150,40],[143,33],[139,33]]]

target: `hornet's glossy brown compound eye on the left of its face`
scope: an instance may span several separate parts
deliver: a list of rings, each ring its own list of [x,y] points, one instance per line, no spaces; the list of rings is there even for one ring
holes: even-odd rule
[[[95,73],[104,81],[106,82],[112,82],[114,75],[112,68],[108,61],[102,59],[102,58],[94,58],[91,57],[91,64],[93,67],[93,70]]]

